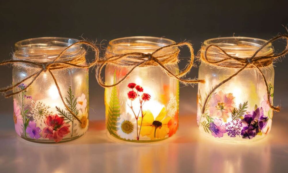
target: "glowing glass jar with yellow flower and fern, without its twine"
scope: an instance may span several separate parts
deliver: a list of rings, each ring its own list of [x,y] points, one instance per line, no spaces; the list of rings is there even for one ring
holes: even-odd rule
[[[119,38],[109,42],[106,57],[130,52],[152,53],[174,43],[158,37]],[[155,56],[171,52],[178,55],[178,50],[175,47],[165,48]],[[124,60],[121,62],[125,63]],[[134,66],[122,63],[106,66],[107,85],[121,80]],[[179,73],[177,63],[166,67],[175,74]],[[179,82],[168,77],[159,66],[136,67],[123,82],[106,88],[104,97],[107,130],[117,139],[155,142],[172,136],[178,129]]]

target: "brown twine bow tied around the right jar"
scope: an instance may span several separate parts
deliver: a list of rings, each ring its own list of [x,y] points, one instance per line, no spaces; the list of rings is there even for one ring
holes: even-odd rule
[[[268,44],[276,41],[276,40],[279,40],[279,39],[286,39],[287,43],[286,43],[286,46],[285,46],[285,49],[281,52],[281,53],[278,53],[278,54],[272,54],[272,55],[264,55],[264,56],[257,56],[256,55],[260,52],[260,50],[262,50],[265,46],[267,46]],[[207,58],[207,52],[209,50],[209,48],[217,48],[218,50],[220,50],[225,56],[226,58],[222,59],[222,60],[219,60],[219,61],[210,61],[208,58]],[[202,47],[202,49],[204,49],[204,47]],[[209,95],[207,95],[206,99],[205,99],[205,102],[203,104],[203,107],[202,107],[202,114],[205,113],[205,108],[206,108],[206,105],[208,104],[208,99],[209,97],[211,96],[211,94],[221,85],[223,85],[224,83],[226,83],[227,81],[229,81],[230,79],[232,79],[234,76],[236,76],[237,74],[239,74],[242,70],[244,70],[245,68],[247,67],[250,67],[250,68],[255,68],[257,69],[257,71],[259,72],[259,74],[261,74],[263,80],[264,80],[264,83],[266,85],[266,91],[267,91],[267,102],[268,102],[268,105],[269,107],[276,111],[276,112],[279,112],[280,111],[280,107],[279,106],[273,106],[270,102],[270,93],[269,93],[269,87],[268,87],[268,84],[267,84],[267,80],[263,74],[263,72],[261,71],[261,67],[265,67],[267,65],[270,65],[275,59],[278,59],[279,57],[282,57],[284,56],[285,54],[287,54],[288,52],[288,35],[279,35],[277,37],[274,37],[270,40],[268,40],[268,42],[266,42],[263,46],[261,46],[251,57],[249,58],[246,58],[246,59],[243,59],[243,58],[240,58],[240,57],[235,57],[235,56],[232,56],[230,54],[228,54],[227,52],[225,52],[222,48],[220,48],[219,46],[216,46],[216,45],[209,45],[206,47],[206,50],[204,51],[204,55],[203,53],[201,53],[201,61],[204,61],[205,63],[208,63],[210,65],[215,65],[215,66],[221,66],[221,67],[228,67],[228,66],[223,66],[223,62],[226,62],[226,61],[231,61],[231,60],[234,60],[236,61],[238,64],[241,64],[240,66],[240,69],[233,75],[231,75],[229,78],[223,80],[222,82],[220,82],[219,84],[217,84],[209,93]],[[221,65],[220,65],[221,64]],[[239,68],[238,65],[234,66],[233,68]],[[253,75],[253,74],[251,74]]]

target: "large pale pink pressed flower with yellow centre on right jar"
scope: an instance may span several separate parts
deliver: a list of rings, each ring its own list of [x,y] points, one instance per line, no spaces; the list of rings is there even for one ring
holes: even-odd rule
[[[213,93],[209,101],[210,116],[221,118],[226,122],[234,108],[234,98],[232,93],[224,94],[221,90],[217,94]]]

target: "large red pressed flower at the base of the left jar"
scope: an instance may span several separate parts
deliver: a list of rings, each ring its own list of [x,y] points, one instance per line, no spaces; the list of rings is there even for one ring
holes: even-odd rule
[[[59,117],[57,114],[48,115],[45,124],[46,127],[43,128],[43,138],[49,138],[55,142],[59,142],[70,133],[70,125],[65,123],[64,120]]]

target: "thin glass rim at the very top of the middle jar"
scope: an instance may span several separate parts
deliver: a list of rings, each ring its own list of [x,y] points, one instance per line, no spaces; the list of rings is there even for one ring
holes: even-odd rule
[[[121,40],[134,40],[136,42],[139,43],[147,43],[147,44],[151,44],[151,45],[156,45],[156,43],[158,44],[157,46],[150,46],[150,47],[131,47],[130,45],[119,45],[116,44],[117,41],[121,41]],[[145,41],[144,39],[151,39],[151,40],[161,40],[162,42],[152,42],[152,41]],[[165,44],[166,42],[166,44]],[[121,37],[121,38],[116,38],[113,39],[109,42],[109,46],[113,46],[115,48],[129,48],[129,49],[155,49],[156,47],[160,48],[160,47],[164,47],[164,46],[168,46],[170,44],[175,44],[176,42],[173,40],[170,40],[168,38],[163,38],[163,37],[151,37],[151,36],[132,36],[132,37]]]

